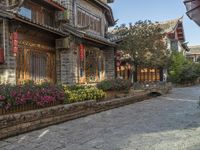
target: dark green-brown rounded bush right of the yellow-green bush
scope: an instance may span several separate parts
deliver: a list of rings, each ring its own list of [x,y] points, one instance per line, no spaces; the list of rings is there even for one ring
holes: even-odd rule
[[[131,88],[131,82],[123,79],[104,80],[97,84],[97,88],[103,91],[121,91],[129,90]]]

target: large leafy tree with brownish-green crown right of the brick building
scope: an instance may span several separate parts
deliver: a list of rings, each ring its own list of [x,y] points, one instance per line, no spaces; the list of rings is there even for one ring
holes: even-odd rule
[[[119,48],[129,53],[133,64],[142,67],[166,67],[169,52],[164,40],[165,34],[158,23],[138,21],[134,25],[124,24],[115,29],[117,35],[123,36]]]

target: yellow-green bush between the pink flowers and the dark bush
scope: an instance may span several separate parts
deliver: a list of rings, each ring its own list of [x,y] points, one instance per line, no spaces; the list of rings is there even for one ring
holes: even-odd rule
[[[64,89],[68,97],[65,101],[66,103],[74,103],[86,100],[101,100],[106,96],[105,92],[92,86],[65,86]]]

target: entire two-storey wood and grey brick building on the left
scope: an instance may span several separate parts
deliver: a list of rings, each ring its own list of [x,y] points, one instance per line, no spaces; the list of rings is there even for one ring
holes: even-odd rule
[[[0,82],[114,78],[115,43],[106,38],[115,23],[109,2],[1,1],[7,7],[0,11]]]

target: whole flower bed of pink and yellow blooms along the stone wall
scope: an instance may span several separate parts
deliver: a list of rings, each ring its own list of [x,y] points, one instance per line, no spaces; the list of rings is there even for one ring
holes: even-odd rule
[[[50,83],[0,85],[0,115],[16,113],[59,104],[101,100],[105,92],[92,86],[58,86]]]

